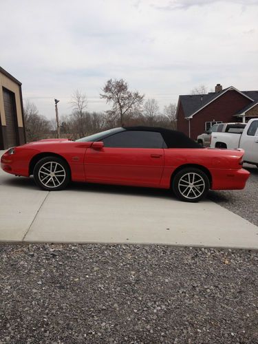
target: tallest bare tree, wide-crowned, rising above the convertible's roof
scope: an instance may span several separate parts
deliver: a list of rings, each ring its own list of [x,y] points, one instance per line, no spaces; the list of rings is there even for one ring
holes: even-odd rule
[[[119,118],[120,125],[124,125],[126,115],[128,117],[138,111],[144,98],[144,95],[140,95],[138,91],[129,91],[128,84],[123,79],[107,80],[102,91],[103,94],[100,94],[100,98],[112,105],[112,109],[107,111],[107,116],[111,118],[112,122]]]

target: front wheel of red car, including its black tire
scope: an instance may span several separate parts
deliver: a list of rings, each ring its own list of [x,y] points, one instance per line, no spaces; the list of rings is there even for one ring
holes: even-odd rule
[[[39,160],[34,167],[33,176],[36,184],[47,191],[63,190],[71,179],[67,162],[56,156]]]

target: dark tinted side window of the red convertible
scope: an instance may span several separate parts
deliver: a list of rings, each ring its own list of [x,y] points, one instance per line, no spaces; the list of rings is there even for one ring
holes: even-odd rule
[[[105,147],[116,148],[166,148],[161,133],[157,131],[122,131],[103,139]]]

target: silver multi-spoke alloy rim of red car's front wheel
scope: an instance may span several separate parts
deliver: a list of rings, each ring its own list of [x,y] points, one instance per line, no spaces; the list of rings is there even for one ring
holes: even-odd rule
[[[38,172],[39,181],[47,188],[57,188],[65,181],[65,169],[58,162],[45,162]]]

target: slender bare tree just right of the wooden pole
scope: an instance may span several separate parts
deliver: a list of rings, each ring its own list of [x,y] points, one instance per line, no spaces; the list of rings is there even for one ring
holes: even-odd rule
[[[70,103],[73,110],[74,129],[78,137],[83,137],[87,131],[87,96],[76,89]]]

